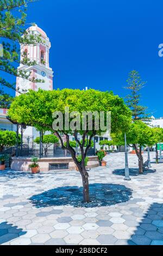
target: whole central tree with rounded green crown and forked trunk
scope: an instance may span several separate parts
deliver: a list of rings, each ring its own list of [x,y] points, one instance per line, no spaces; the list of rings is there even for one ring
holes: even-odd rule
[[[97,113],[104,111],[104,121],[106,125],[106,112],[111,111],[111,129],[112,132],[126,129],[130,123],[131,114],[129,108],[124,104],[123,99],[119,96],[114,95],[112,92],[99,92],[97,90],[53,90],[44,91],[38,90],[34,92],[30,90],[27,94],[22,94],[16,97],[15,101],[12,102],[9,110],[9,116],[12,120],[18,121],[18,123],[25,123],[28,125],[35,126],[38,130],[51,130],[53,131],[54,118],[52,114],[56,111],[62,113],[65,120],[65,107],[69,107],[69,113],[76,112],[81,115],[83,111],[96,111]],[[68,114],[69,114],[68,113]],[[69,125],[72,122],[72,118],[69,119]],[[76,126],[74,130],[71,130],[71,126],[68,128],[64,124],[60,130],[55,131],[55,134],[60,139],[62,149],[70,151],[72,159],[79,169],[83,181],[83,198],[84,202],[90,202],[89,198],[89,174],[85,168],[85,158],[87,151],[91,147],[92,138],[95,135],[101,135],[104,129],[101,127],[97,129],[95,119],[93,118],[92,128],[88,129],[88,123],[86,129],[83,131],[81,127],[82,119],[79,120],[80,127]],[[76,121],[74,123],[77,123]],[[54,131],[53,131],[54,132]],[[60,132],[66,137],[66,146],[62,141]],[[78,134],[82,135],[83,142],[80,143]],[[79,162],[76,156],[76,151],[70,145],[70,135],[73,135],[75,141],[80,147],[82,155],[82,161]],[[85,148],[86,137],[89,137],[89,143]]]

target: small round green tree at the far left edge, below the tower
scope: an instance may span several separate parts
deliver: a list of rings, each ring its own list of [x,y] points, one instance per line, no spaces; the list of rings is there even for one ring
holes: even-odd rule
[[[0,152],[2,153],[5,147],[8,148],[8,147],[15,146],[16,141],[17,141],[16,132],[0,131]]]

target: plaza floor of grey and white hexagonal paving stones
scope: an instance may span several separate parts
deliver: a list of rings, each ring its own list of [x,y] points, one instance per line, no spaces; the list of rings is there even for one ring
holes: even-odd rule
[[[140,175],[129,155],[124,181],[124,153],[106,156],[107,167],[89,172],[87,205],[76,171],[1,171],[0,245],[163,245],[163,162],[154,157]]]

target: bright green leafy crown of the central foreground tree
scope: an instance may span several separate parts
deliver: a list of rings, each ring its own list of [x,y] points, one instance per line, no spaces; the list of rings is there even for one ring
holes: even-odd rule
[[[14,100],[9,110],[12,120],[19,123],[26,123],[35,126],[38,130],[53,130],[53,117],[55,111],[65,113],[65,107],[70,108],[70,112],[78,111],[111,111],[111,129],[114,131],[126,130],[131,120],[130,110],[124,104],[123,99],[109,92],[99,92],[97,90],[52,90],[45,91],[39,89],[35,92],[29,90]],[[105,119],[106,121],[106,119]],[[71,133],[71,130],[61,132]],[[83,131],[78,131],[83,135]],[[87,132],[88,135],[101,134],[101,130]]]

